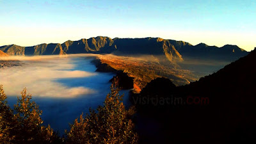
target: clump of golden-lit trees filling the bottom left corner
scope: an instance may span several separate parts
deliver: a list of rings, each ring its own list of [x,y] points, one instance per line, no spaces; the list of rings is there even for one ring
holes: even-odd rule
[[[32,95],[24,88],[13,112],[0,86],[0,143],[61,143],[50,125],[42,125],[42,111],[31,99]]]

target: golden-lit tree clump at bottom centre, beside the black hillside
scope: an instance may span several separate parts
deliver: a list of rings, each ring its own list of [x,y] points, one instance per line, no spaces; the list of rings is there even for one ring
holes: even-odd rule
[[[106,96],[103,106],[97,111],[90,109],[70,125],[67,132],[68,143],[138,143],[138,134],[134,131],[132,115],[134,107],[125,110],[119,95],[117,81],[111,84],[111,92]]]

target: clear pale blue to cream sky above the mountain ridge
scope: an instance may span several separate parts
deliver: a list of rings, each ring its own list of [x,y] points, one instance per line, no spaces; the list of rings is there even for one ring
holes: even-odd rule
[[[0,45],[92,36],[256,47],[256,0],[0,0]]]

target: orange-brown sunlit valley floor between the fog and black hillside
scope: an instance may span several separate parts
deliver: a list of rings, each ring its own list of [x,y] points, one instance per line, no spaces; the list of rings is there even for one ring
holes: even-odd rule
[[[140,93],[147,83],[157,77],[171,79],[177,86],[196,81],[195,76],[189,70],[183,70],[178,65],[176,68],[157,63],[152,56],[127,57],[114,56],[113,54],[97,55],[101,63],[106,63],[115,70],[121,70],[129,77],[134,78],[134,92]],[[99,66],[100,67],[100,66]]]

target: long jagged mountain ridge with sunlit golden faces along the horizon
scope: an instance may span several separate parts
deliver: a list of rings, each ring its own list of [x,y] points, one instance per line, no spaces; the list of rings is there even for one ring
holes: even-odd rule
[[[152,54],[159,60],[182,61],[182,56],[237,60],[248,52],[236,45],[223,47],[206,44],[191,45],[188,42],[164,40],[163,38],[114,38],[97,36],[77,41],[68,40],[63,44],[40,44],[31,47],[4,45],[0,50],[9,55],[49,55],[78,53],[111,53],[117,55]]]

